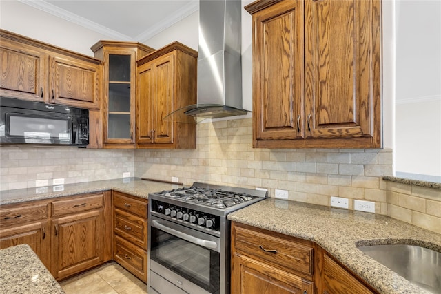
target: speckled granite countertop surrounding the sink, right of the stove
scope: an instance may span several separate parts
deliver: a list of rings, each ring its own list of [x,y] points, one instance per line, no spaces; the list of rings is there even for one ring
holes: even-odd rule
[[[357,246],[411,244],[441,251],[441,235],[388,216],[267,198],[229,213],[229,220],[311,240],[384,294],[427,293]]]

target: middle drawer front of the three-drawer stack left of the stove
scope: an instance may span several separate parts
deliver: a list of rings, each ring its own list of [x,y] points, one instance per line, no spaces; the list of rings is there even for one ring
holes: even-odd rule
[[[147,250],[147,219],[115,209],[114,231],[121,237]]]

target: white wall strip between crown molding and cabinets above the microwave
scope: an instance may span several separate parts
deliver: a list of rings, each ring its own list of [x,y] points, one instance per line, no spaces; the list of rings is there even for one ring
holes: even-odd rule
[[[0,28],[88,56],[93,56],[94,43],[112,40],[15,0],[0,1]]]

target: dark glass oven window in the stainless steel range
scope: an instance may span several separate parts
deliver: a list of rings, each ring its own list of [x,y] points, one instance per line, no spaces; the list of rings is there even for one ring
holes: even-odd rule
[[[219,293],[220,253],[154,227],[151,233],[152,260],[210,293]]]

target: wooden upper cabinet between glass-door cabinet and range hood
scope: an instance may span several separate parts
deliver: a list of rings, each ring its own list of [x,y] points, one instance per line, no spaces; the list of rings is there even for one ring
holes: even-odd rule
[[[197,56],[198,52],[174,42],[138,61],[137,147],[196,148],[192,118],[185,122],[164,118],[196,103]]]

